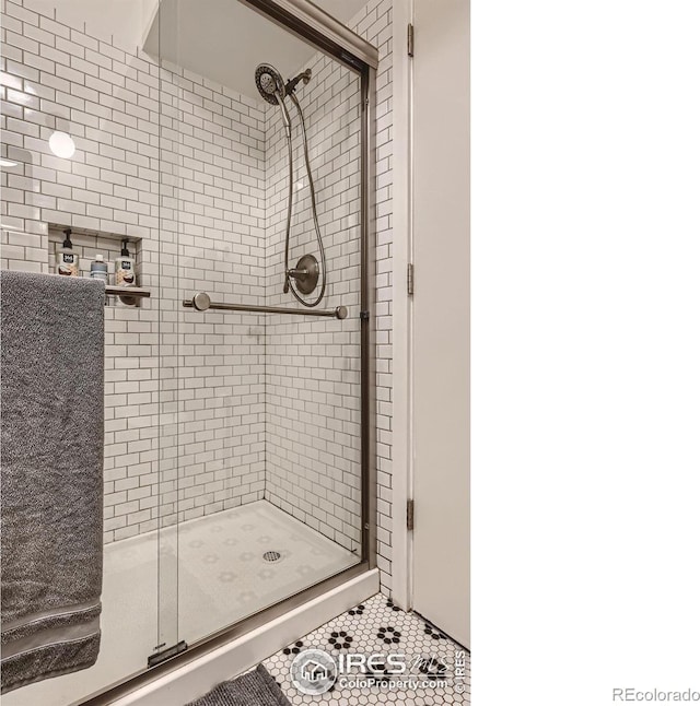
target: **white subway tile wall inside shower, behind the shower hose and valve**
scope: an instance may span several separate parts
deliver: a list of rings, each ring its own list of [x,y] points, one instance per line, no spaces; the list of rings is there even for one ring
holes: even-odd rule
[[[360,468],[360,79],[324,55],[299,84],[311,155],[328,284],[320,306],[348,307],[343,321],[267,322],[266,498],[353,551],[361,543]],[[295,73],[293,71],[292,73]],[[291,106],[293,219],[290,266],[311,252],[320,260],[302,128]],[[282,293],[289,189],[288,140],[277,106],[267,110],[266,262],[268,303]],[[318,290],[304,297],[317,296]],[[295,304],[295,306],[301,306]]]

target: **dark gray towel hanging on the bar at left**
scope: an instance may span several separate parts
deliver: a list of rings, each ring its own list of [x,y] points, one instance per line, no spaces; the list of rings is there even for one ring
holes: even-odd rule
[[[104,296],[0,273],[2,693],[97,659]]]

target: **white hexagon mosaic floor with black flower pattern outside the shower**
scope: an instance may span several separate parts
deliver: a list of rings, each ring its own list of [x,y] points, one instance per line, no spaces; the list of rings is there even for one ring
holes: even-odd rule
[[[335,684],[323,694],[302,693],[292,682],[292,662],[302,660],[304,650],[311,649],[324,650],[336,663],[342,661]],[[351,667],[346,667],[348,660]],[[294,706],[470,704],[469,652],[381,593],[292,643],[264,664]],[[399,664],[405,664],[405,672],[397,673]]]

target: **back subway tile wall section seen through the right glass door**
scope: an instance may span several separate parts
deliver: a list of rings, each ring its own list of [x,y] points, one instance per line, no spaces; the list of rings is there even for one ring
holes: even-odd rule
[[[163,74],[159,470],[172,523],[265,490],[264,319],[182,305],[200,291],[265,303],[265,104]]]

